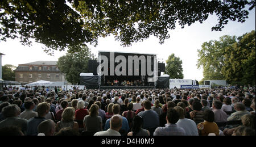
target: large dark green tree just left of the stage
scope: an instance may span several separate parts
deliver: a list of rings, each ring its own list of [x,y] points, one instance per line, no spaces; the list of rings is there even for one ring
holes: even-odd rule
[[[85,46],[69,47],[65,56],[61,56],[57,61],[57,66],[65,78],[73,85],[80,82],[80,73],[88,73],[88,60],[94,58],[90,49]],[[79,52],[73,52],[73,51]]]

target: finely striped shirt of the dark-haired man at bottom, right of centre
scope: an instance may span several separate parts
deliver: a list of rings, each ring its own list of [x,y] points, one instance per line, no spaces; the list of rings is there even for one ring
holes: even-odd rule
[[[155,129],[154,136],[185,136],[183,128],[177,127],[176,124],[166,124],[165,127]]]

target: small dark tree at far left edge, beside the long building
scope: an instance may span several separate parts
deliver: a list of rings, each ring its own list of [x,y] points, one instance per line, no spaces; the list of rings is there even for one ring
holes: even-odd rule
[[[17,67],[11,64],[6,64],[2,66],[2,77],[6,81],[15,81],[14,69]]]

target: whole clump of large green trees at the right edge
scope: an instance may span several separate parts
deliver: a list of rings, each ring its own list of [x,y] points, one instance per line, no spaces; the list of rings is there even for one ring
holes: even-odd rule
[[[198,50],[197,67],[204,80],[225,79],[231,84],[255,85],[255,31],[240,37],[222,36],[205,42]]]

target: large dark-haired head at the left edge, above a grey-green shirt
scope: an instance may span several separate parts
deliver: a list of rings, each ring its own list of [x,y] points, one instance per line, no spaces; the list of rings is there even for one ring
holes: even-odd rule
[[[7,117],[16,117],[20,115],[20,108],[16,104],[10,104],[2,108],[3,116]]]

